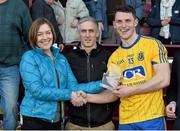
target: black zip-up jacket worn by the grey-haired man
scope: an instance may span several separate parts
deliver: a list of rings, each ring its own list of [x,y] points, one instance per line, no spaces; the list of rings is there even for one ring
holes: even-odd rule
[[[67,59],[71,65],[72,71],[79,83],[101,80],[103,73],[106,72],[106,64],[110,52],[97,44],[90,55],[79,46],[67,54]],[[70,104],[69,117],[70,122],[85,127],[96,127],[112,120],[113,103],[111,104],[86,104],[82,107],[74,107]]]

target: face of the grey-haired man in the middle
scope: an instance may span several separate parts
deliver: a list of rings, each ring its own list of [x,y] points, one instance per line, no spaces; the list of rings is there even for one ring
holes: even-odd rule
[[[80,24],[79,37],[81,46],[84,48],[96,47],[96,40],[99,36],[97,26],[91,22],[86,21]]]

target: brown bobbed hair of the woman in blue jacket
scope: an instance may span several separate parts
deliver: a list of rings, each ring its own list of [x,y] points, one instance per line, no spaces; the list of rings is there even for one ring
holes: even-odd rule
[[[30,46],[32,48],[35,48],[37,45],[37,33],[38,33],[40,26],[43,24],[47,24],[50,27],[52,34],[53,34],[53,42],[56,41],[56,33],[54,31],[54,27],[51,24],[51,22],[49,22],[44,17],[39,17],[32,23],[32,25],[29,29],[29,42],[30,42]]]

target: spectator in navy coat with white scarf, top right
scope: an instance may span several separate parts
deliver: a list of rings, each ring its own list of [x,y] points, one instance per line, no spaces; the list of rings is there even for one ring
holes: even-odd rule
[[[180,1],[156,0],[148,15],[152,36],[163,44],[180,43]]]

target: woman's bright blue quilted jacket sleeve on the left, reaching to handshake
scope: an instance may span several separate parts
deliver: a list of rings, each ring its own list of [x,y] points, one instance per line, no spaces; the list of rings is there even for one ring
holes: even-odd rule
[[[70,100],[71,98],[71,90],[69,89],[44,86],[39,66],[31,52],[23,55],[20,62],[20,74],[25,88],[25,95],[28,94],[35,99],[45,101]]]

